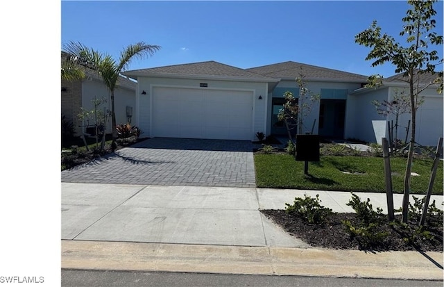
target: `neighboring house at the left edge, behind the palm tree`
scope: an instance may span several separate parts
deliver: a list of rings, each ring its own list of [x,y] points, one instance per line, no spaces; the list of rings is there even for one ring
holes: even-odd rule
[[[62,53],[62,57],[64,54]],[[61,82],[62,91],[62,116],[65,115],[65,120],[74,124],[75,136],[82,136],[83,131],[86,132],[86,127],[82,127],[86,123],[79,122],[78,114],[80,108],[84,110],[94,110],[92,100],[94,97],[100,99],[105,97],[106,103],[101,105],[101,109],[111,110],[111,99],[108,88],[106,88],[103,81],[99,78],[96,72],[87,69],[86,78],[79,81],[65,81]],[[137,110],[135,109],[135,90],[137,83],[126,77],[121,76],[119,79],[118,88],[114,91],[114,108],[116,113],[117,124],[135,124],[135,117]],[[89,122],[89,124],[94,124]],[[106,133],[112,133],[111,119],[108,120]],[[88,130],[89,132],[90,130]]]

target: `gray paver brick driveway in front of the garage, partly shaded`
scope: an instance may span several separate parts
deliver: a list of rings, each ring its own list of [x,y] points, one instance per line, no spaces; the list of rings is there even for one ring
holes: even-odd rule
[[[62,182],[255,187],[251,142],[151,138],[62,171]]]

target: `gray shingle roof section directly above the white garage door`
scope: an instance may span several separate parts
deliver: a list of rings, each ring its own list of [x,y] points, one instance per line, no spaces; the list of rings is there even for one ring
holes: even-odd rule
[[[254,72],[249,72],[245,69],[232,67],[230,65],[225,65],[215,61],[153,67],[148,69],[134,69],[124,72],[123,74],[128,76],[155,76],[160,74],[171,76],[221,76],[232,78],[263,79],[264,81],[273,80],[262,74],[255,74]]]

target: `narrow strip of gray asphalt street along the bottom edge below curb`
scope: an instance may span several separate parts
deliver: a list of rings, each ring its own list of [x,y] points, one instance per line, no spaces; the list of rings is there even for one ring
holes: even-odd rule
[[[273,275],[203,274],[180,272],[125,272],[62,270],[62,286],[312,286],[312,287],[442,287],[442,281],[394,280]]]

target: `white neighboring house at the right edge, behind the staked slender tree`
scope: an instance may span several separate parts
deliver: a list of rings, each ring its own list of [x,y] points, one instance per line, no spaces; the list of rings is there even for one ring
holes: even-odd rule
[[[432,83],[437,75],[421,75],[419,85],[425,87]],[[348,98],[355,110],[348,121],[348,134],[367,142],[379,144],[382,143],[381,138],[388,138],[387,121],[393,121],[395,124],[395,115],[388,115],[388,117],[377,115],[375,106],[372,104],[368,106],[368,103],[373,100],[392,102],[393,96],[400,95],[402,92],[409,96],[409,86],[404,80],[402,74],[396,74],[383,79],[379,88],[362,88],[350,93]],[[438,139],[443,137],[443,95],[438,94],[436,88],[438,88],[437,85],[430,85],[429,88],[421,92],[420,97],[423,97],[424,101],[416,111],[416,142],[424,146],[436,147]],[[362,118],[365,118],[366,121],[360,120]],[[410,113],[405,113],[399,118],[398,139],[402,141],[406,138],[409,140],[410,119]],[[407,128],[409,128],[409,134],[407,134]]]

